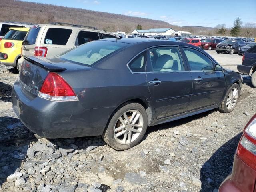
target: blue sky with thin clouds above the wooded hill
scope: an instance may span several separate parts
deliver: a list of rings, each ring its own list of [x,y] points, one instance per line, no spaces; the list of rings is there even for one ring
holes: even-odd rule
[[[166,21],[178,26],[256,24],[256,0],[25,0]]]

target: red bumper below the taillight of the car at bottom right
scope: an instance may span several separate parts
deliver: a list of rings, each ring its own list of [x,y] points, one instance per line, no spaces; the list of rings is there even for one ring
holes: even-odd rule
[[[256,171],[235,154],[232,174],[220,185],[219,192],[254,192]]]

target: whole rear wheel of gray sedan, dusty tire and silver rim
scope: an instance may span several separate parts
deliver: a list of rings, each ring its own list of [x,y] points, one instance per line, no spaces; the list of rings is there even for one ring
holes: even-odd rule
[[[135,116],[134,112],[136,112]],[[126,114],[126,117],[124,114]],[[133,119],[131,120],[131,118]],[[136,120],[136,122],[133,122],[133,120]],[[138,127],[134,126],[132,128],[133,124]],[[113,113],[102,137],[115,150],[128,150],[142,140],[147,128],[148,115],[145,108],[138,103],[126,103]]]

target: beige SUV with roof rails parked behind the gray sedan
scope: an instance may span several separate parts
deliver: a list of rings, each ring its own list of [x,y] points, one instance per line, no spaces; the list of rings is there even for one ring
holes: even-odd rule
[[[116,36],[91,26],[59,22],[40,24],[31,27],[24,38],[22,55],[37,57],[56,56],[70,48],[103,38],[116,38]]]

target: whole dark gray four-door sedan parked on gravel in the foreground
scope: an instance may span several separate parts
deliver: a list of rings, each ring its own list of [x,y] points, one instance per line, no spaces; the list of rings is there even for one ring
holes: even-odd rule
[[[193,45],[112,38],[54,58],[24,57],[12,106],[38,136],[102,135],[126,150],[148,126],[214,108],[232,112],[241,84],[240,74]]]

